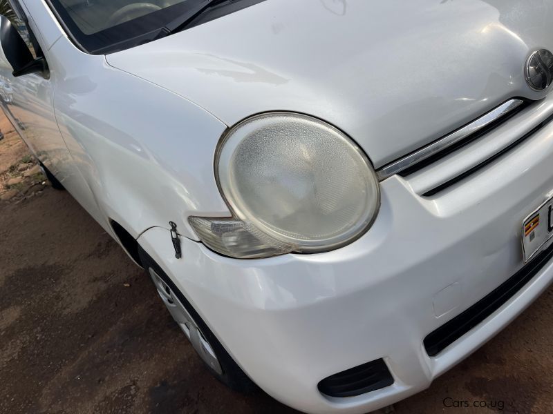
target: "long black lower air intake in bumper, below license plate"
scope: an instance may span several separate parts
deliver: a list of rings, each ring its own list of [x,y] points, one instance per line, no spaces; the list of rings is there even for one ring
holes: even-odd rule
[[[431,357],[438,355],[447,346],[471,331],[497,311],[505,302],[521,290],[553,258],[553,245],[537,255],[514,276],[476,302],[465,312],[457,315],[424,338],[424,348]]]

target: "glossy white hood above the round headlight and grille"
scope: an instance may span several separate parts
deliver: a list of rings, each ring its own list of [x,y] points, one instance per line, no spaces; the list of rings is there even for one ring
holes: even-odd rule
[[[523,68],[553,50],[552,22],[543,0],[266,0],[106,59],[229,126],[270,110],[325,119],[379,167],[542,98]]]

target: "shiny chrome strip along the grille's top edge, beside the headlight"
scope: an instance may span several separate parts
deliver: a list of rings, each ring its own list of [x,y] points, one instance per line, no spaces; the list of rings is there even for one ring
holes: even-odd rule
[[[392,175],[398,174],[399,172],[402,172],[407,168],[415,166],[415,164],[420,163],[420,161],[424,161],[424,159],[432,157],[433,155],[438,154],[438,152],[449,148],[453,144],[457,144],[459,141],[470,137],[474,133],[478,132],[478,130],[485,128],[485,126],[488,126],[492,122],[495,122],[501,117],[504,117],[509,112],[512,112],[512,110],[518,108],[523,103],[524,101],[522,99],[511,99],[498,106],[494,110],[487,112],[487,114],[482,115],[482,117],[476,119],[475,121],[472,121],[470,124],[467,124],[462,128],[451,132],[451,134],[446,135],[441,139],[438,139],[438,141],[434,141],[432,144],[429,144],[421,148],[420,150],[413,152],[410,155],[406,155],[405,157],[400,158],[397,161],[393,161],[390,164],[379,168],[376,171],[376,175],[379,181],[391,177]]]

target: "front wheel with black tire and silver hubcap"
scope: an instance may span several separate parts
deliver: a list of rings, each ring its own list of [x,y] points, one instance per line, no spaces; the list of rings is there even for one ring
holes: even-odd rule
[[[138,246],[142,267],[158,290],[163,303],[207,369],[234,391],[250,394],[257,386],[227,353],[182,292],[153,259]],[[197,331],[195,331],[197,330]]]

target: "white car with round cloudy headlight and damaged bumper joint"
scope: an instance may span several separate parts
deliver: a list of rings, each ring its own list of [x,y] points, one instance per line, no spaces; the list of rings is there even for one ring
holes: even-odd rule
[[[10,3],[3,109],[230,386],[375,410],[552,282],[552,0]]]

